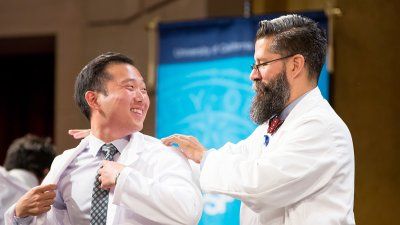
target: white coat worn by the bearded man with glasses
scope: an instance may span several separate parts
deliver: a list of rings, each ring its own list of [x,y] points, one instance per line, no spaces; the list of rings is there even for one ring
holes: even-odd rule
[[[267,128],[210,152],[202,190],[240,199],[243,225],[355,224],[351,135],[319,89],[300,100],[265,146]]]

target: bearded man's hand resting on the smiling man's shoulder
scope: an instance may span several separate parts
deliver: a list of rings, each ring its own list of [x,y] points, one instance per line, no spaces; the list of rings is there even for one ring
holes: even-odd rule
[[[188,158],[196,163],[200,163],[203,158],[203,154],[206,148],[193,136],[187,136],[182,134],[174,134],[166,138],[162,138],[161,141],[168,146],[178,144],[178,149]]]

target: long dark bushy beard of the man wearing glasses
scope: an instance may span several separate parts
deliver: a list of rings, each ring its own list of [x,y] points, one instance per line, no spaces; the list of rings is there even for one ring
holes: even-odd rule
[[[253,98],[250,116],[256,124],[261,125],[285,109],[290,97],[290,87],[284,70],[268,84],[258,80],[254,85],[256,96]]]

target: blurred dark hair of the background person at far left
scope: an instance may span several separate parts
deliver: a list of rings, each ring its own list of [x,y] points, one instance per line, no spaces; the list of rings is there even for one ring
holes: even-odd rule
[[[15,139],[7,150],[4,167],[6,170],[24,169],[36,175],[39,180],[45,177],[44,170],[50,169],[56,156],[50,138],[40,138],[27,134]]]

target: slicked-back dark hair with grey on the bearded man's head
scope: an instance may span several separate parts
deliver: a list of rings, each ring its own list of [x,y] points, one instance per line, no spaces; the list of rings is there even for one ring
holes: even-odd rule
[[[286,15],[259,24],[256,39],[272,37],[270,51],[281,55],[301,54],[311,79],[318,81],[325,62],[326,34],[313,20]]]

